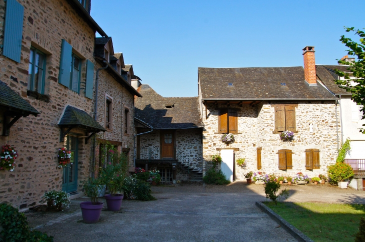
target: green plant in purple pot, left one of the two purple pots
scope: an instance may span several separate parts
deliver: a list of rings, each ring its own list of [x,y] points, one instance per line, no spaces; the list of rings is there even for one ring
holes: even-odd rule
[[[102,186],[102,182],[100,182],[100,179],[98,178],[89,178],[83,183],[85,195],[90,198],[90,201],[80,203],[82,219],[87,224],[99,221],[101,209],[104,206],[104,203],[98,202],[97,199]]]

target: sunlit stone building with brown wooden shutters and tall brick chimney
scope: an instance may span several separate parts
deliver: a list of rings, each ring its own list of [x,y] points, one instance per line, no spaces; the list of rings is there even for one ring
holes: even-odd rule
[[[220,154],[228,179],[242,180],[248,171],[314,177],[335,162],[337,98],[316,81],[314,47],[306,46],[303,57],[304,68],[198,68],[203,155]],[[280,140],[286,130],[294,132],[292,142]],[[233,143],[220,140],[226,133]]]

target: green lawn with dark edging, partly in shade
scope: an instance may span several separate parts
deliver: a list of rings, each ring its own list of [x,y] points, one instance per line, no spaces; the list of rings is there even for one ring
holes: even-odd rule
[[[277,203],[265,205],[316,242],[353,242],[365,205]]]

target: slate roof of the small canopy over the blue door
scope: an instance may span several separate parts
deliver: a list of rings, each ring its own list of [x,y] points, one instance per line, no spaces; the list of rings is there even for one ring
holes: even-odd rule
[[[64,127],[82,127],[88,129],[96,129],[98,131],[106,131],[99,123],[97,123],[85,111],[67,105],[61,119],[58,122],[59,126]]]

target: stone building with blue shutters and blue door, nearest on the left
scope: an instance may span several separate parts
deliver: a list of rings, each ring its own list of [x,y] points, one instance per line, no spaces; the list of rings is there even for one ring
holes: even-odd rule
[[[0,171],[0,202],[24,209],[47,190],[82,191],[90,137],[106,130],[92,116],[95,31],[107,35],[90,1],[6,0],[0,8],[0,89],[12,97],[0,95],[0,145],[19,155],[14,171]],[[73,154],[64,169],[61,147]]]

